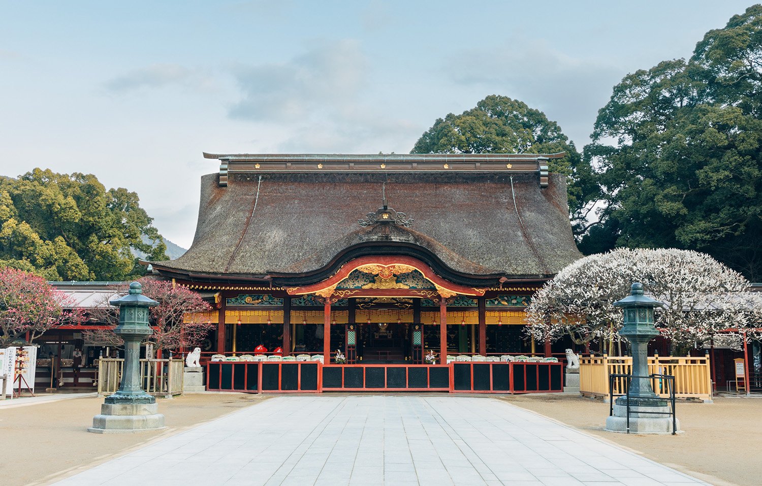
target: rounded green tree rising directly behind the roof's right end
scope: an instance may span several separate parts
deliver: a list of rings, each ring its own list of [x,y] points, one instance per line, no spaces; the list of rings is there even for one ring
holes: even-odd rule
[[[597,191],[591,171],[580,153],[540,110],[495,94],[462,114],[438,118],[411,150],[413,154],[556,153],[551,172],[568,176],[568,199],[575,229],[584,231],[587,203]]]

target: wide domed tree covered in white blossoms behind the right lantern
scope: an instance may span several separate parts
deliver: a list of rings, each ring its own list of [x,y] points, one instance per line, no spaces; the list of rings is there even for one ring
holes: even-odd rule
[[[749,292],[740,273],[709,255],[620,248],[584,257],[546,283],[527,308],[527,331],[538,340],[568,335],[578,345],[617,341],[622,310],[613,302],[625,297],[633,282],[665,303],[655,325],[675,344],[704,343],[720,331],[738,336],[762,321],[762,295]]]

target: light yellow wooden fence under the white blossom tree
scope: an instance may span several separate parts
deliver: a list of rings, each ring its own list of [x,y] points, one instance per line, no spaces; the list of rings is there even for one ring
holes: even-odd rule
[[[609,397],[609,376],[629,374],[632,357],[581,357],[579,360],[580,393],[586,396]],[[712,400],[712,374],[709,357],[648,357],[648,373],[674,376],[676,398]],[[668,397],[666,383],[652,380],[654,392]],[[624,393],[625,379],[614,380],[614,393]]]

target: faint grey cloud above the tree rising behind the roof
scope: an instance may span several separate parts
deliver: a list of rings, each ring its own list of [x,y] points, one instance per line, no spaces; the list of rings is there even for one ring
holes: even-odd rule
[[[543,110],[578,145],[588,142],[591,120],[625,74],[613,64],[569,57],[541,41],[518,39],[490,50],[456,53],[445,71],[457,85],[483,88],[485,95],[502,94]]]

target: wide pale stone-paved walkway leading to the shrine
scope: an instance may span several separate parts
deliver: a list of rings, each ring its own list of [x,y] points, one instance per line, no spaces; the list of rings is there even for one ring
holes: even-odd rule
[[[494,398],[300,395],[272,398],[57,484],[706,483]]]

